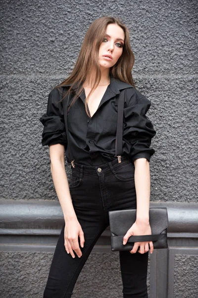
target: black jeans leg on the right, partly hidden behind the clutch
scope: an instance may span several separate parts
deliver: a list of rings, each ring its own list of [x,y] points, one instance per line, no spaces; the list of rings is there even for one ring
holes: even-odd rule
[[[135,167],[125,163],[111,168],[105,177],[105,186],[111,201],[108,211],[136,209]],[[147,298],[148,252],[131,254],[120,251],[120,269],[124,298]]]

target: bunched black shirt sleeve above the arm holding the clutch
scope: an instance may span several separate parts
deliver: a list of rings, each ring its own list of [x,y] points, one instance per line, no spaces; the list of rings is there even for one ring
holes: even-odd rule
[[[130,143],[130,158],[147,158],[154,154],[150,148],[151,139],[156,132],[149,118],[146,116],[151,102],[138,90],[133,89],[133,94],[126,108],[124,108],[124,133],[123,138]]]

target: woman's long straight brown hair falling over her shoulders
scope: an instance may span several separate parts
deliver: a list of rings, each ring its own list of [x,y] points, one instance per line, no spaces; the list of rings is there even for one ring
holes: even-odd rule
[[[74,96],[71,102],[72,105],[83,91],[83,83],[86,80],[88,72],[90,72],[92,69],[95,69],[95,82],[93,88],[91,89],[88,97],[85,100],[85,108],[88,116],[90,116],[88,113],[89,97],[91,93],[94,91],[94,89],[98,86],[101,78],[101,71],[99,66],[99,46],[104,39],[106,27],[108,24],[116,24],[120,26],[125,33],[125,42],[123,46],[122,55],[120,56],[116,64],[110,68],[109,74],[112,75],[115,79],[120,79],[121,81],[129,83],[135,87],[133,77],[131,74],[135,58],[131,50],[129,41],[129,31],[127,27],[118,18],[114,18],[112,16],[103,16],[101,18],[96,19],[87,30],[85,39],[83,41],[78,59],[76,61],[72,73],[68,78],[66,78],[58,86],[56,86],[57,88],[64,85],[71,85],[65,96],[69,92],[72,92],[71,89],[74,86],[74,84],[77,86],[76,96]]]

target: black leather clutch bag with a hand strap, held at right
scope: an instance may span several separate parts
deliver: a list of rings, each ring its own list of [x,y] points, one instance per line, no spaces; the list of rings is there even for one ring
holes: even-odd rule
[[[123,237],[136,221],[136,209],[109,211],[111,250],[131,250],[134,242],[152,241],[153,247],[167,248],[168,213],[166,208],[150,208],[149,223],[151,235],[129,237],[123,245]]]

